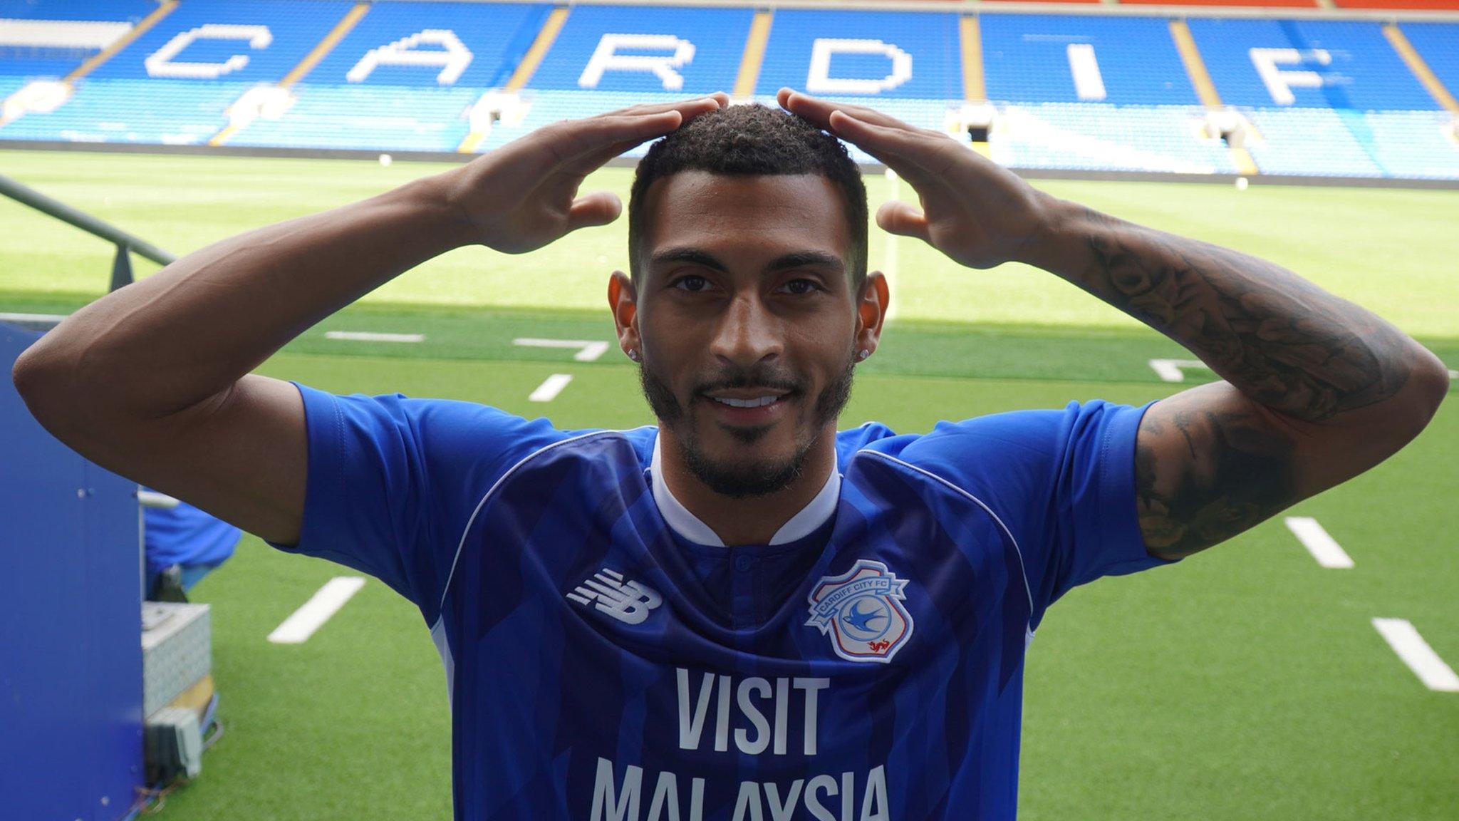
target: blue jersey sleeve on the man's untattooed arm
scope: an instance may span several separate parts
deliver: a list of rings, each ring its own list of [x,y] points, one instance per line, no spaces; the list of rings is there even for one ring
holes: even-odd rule
[[[299,543],[268,545],[374,576],[427,624],[481,497],[527,454],[569,435],[471,402],[293,384],[309,443],[303,522]]]

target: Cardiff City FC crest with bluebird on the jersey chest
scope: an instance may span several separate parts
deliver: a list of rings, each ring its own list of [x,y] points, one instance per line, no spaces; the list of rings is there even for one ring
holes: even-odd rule
[[[912,637],[912,614],[902,605],[906,586],[880,561],[856,560],[846,573],[823,576],[811,589],[805,625],[829,635],[842,659],[890,662]]]

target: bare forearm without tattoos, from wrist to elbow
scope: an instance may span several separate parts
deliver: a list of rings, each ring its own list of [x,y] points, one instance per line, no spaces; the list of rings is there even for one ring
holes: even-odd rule
[[[226,390],[305,329],[463,244],[439,183],[223,240],[82,308],[16,365],[165,415]]]

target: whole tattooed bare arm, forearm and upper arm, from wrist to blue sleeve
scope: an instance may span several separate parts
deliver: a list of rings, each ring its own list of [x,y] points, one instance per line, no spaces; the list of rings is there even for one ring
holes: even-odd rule
[[[1137,505],[1154,555],[1193,554],[1299,501],[1294,431],[1409,380],[1408,337],[1281,266],[1093,210],[1077,225],[1069,279],[1240,392],[1196,389],[1141,422]]]

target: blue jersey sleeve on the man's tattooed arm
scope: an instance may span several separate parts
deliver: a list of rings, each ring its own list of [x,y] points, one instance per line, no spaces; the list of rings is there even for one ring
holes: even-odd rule
[[[1042,614],[1078,584],[1172,564],[1145,549],[1135,510],[1135,435],[1148,408],[1096,400],[943,422],[902,457],[994,511]]]

